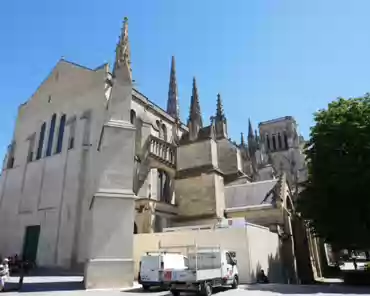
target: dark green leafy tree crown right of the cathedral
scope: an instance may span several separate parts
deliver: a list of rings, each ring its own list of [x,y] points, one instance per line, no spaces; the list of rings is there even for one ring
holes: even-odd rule
[[[314,119],[298,211],[326,242],[370,247],[370,95],[339,98]]]

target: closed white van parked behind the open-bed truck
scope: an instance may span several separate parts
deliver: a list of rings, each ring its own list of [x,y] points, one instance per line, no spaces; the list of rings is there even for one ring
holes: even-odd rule
[[[166,269],[186,269],[188,259],[181,253],[146,253],[141,257],[139,267],[139,284],[143,286],[144,290],[150,287],[162,287],[163,271]]]

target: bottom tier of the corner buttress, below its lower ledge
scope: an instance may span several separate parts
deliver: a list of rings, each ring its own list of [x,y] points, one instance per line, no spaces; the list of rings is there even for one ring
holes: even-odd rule
[[[134,196],[129,192],[95,195],[86,289],[132,286],[134,207]]]

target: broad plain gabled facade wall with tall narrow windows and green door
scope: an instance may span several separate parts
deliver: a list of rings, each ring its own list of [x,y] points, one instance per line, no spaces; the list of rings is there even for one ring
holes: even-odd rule
[[[40,225],[37,263],[71,266],[84,262],[88,209],[94,190],[91,163],[104,119],[105,68],[96,71],[60,61],[31,99],[19,108],[13,168],[1,174],[0,254],[20,254],[26,226]],[[51,155],[46,156],[50,119],[56,114]],[[60,153],[56,152],[59,120],[67,122]],[[46,122],[42,157],[35,159],[40,128]],[[74,147],[68,149],[71,124]],[[36,135],[28,162],[28,137]]]

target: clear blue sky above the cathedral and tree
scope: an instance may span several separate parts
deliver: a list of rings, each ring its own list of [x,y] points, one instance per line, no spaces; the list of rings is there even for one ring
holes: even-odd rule
[[[165,107],[176,57],[182,119],[196,76],[203,119],[221,93],[229,134],[248,117],[292,115],[308,137],[312,113],[370,91],[368,0],[34,0],[0,4],[0,157],[28,100],[60,57],[113,62],[129,17],[136,87]]]

